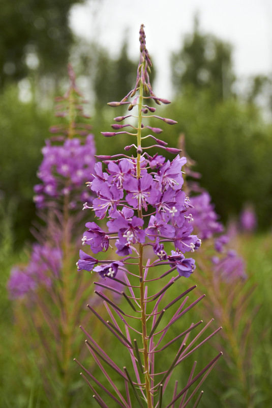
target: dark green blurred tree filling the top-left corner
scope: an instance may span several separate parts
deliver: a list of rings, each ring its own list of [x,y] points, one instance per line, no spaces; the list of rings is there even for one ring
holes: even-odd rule
[[[69,11],[84,0],[0,0],[0,87],[25,77],[66,72],[73,35]]]

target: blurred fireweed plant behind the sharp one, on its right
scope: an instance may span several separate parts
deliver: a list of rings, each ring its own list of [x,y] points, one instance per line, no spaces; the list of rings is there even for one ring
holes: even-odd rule
[[[184,148],[184,137],[180,139],[180,145]],[[217,366],[221,383],[228,390],[222,400],[251,407],[255,406],[256,386],[252,374],[254,346],[250,339],[253,319],[259,309],[258,305],[252,307],[250,304],[255,285],[247,277],[244,259],[232,249],[238,248],[233,228],[225,231],[218,221],[219,215],[209,194],[196,181],[201,175],[192,171],[194,164],[187,157],[184,189],[191,197],[192,224],[202,241],[195,254],[199,270],[195,279],[198,290],[204,290],[208,296],[205,308],[199,308],[198,312],[206,318],[214,316],[224,327],[221,336],[212,340],[215,348],[224,352],[225,364]],[[249,217],[249,225],[255,225],[256,219],[251,214],[246,216]]]

